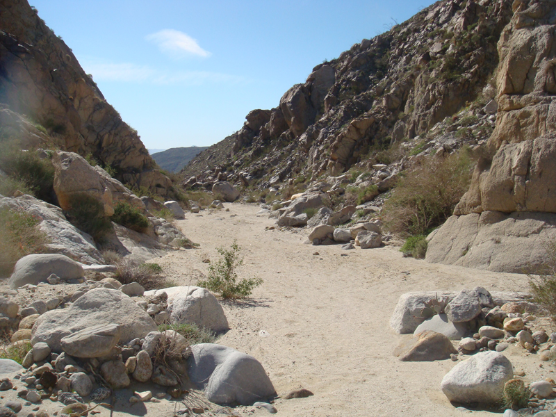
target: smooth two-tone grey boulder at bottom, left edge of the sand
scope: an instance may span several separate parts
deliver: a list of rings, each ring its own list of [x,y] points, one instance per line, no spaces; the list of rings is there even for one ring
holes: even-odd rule
[[[254,357],[231,347],[201,343],[188,358],[191,382],[204,389],[206,399],[220,405],[250,405],[276,396],[266,372]]]

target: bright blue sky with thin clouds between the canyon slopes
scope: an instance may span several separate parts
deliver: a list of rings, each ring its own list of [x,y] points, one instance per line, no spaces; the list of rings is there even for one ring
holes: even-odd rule
[[[149,149],[208,146],[433,2],[29,0]]]

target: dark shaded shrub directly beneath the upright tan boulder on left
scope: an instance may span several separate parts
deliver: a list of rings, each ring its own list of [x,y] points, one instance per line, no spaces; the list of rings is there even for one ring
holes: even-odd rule
[[[97,243],[103,242],[106,234],[112,230],[111,220],[104,215],[104,205],[95,197],[83,193],[71,195],[68,204],[68,220],[90,234]]]

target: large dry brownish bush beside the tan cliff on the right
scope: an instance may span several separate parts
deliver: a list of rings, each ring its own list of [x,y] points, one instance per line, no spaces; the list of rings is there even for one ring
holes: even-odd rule
[[[452,214],[471,181],[467,149],[443,159],[427,158],[400,179],[384,204],[386,228],[395,233],[427,234]]]

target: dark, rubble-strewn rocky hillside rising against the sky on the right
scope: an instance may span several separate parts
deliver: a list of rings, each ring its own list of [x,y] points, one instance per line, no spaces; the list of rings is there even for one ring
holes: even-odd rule
[[[203,183],[218,170],[265,188],[370,168],[380,150],[426,139],[446,117],[493,99],[496,44],[510,17],[509,0],[439,1],[314,67],[276,108],[251,111],[239,131],[199,154],[183,177]],[[471,139],[489,135],[479,129]]]

